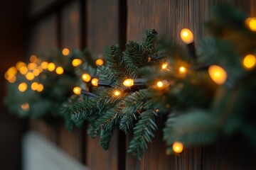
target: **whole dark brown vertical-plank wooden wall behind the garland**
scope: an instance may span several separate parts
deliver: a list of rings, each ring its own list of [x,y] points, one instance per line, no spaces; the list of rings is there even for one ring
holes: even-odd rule
[[[28,54],[50,52],[54,47],[68,47],[70,50],[87,47],[95,59],[102,55],[105,45],[119,43],[124,47],[127,40],[141,40],[144,30],[155,28],[160,35],[180,44],[181,28],[191,28],[196,44],[206,30],[203,22],[210,16],[210,7],[215,2],[225,2],[256,15],[254,0],[33,0],[29,18],[30,38]],[[38,7],[37,7],[38,6]],[[40,7],[39,7],[40,6]],[[38,130],[48,139],[68,152],[70,156],[87,164],[92,170],[100,169],[240,169],[252,162],[235,157],[235,145],[230,141],[214,146],[185,149],[183,154],[167,156],[162,142],[161,129],[156,132],[142,160],[126,154],[126,147],[132,134],[124,136],[114,132],[109,151],[103,151],[99,139],[86,135],[86,128],[67,132],[63,123],[46,125],[31,122],[31,128]],[[225,150],[226,149],[226,150]],[[225,152],[227,151],[227,152]],[[245,152],[240,151],[240,154]],[[241,158],[241,157],[240,157]]]

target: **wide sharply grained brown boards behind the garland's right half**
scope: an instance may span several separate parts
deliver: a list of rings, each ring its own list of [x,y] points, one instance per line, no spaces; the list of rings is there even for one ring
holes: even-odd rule
[[[128,1],[127,40],[141,40],[144,30],[155,28],[164,38],[184,47],[179,32],[182,28],[190,28],[197,45],[198,40],[206,34],[203,23],[208,20],[210,7],[215,3],[233,4],[242,11],[255,13],[253,0],[131,0]],[[127,144],[131,137],[129,134]],[[223,145],[227,147],[229,143]],[[140,161],[130,154],[127,155],[126,169],[238,169],[247,164],[246,161],[240,166],[233,164],[236,159],[222,152],[222,149],[223,147],[215,145],[194,147],[184,149],[180,155],[166,156],[161,131],[157,131],[156,137]],[[234,147],[228,149],[229,151],[235,155]],[[225,162],[225,158],[229,159],[228,163]]]

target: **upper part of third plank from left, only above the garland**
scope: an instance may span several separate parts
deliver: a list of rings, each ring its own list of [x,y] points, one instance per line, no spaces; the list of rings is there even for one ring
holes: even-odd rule
[[[105,45],[118,43],[118,0],[87,1],[87,48],[103,53]]]

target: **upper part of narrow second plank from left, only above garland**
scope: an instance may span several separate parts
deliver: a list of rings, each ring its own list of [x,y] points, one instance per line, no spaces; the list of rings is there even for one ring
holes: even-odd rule
[[[70,50],[80,48],[80,1],[74,1],[63,8],[62,45]]]

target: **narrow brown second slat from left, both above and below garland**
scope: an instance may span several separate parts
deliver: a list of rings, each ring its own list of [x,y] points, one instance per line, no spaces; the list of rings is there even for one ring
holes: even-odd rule
[[[60,44],[70,50],[80,48],[80,1],[73,1],[61,9]],[[83,161],[83,130],[75,129],[68,132],[65,125],[60,123],[58,145],[71,157]]]

